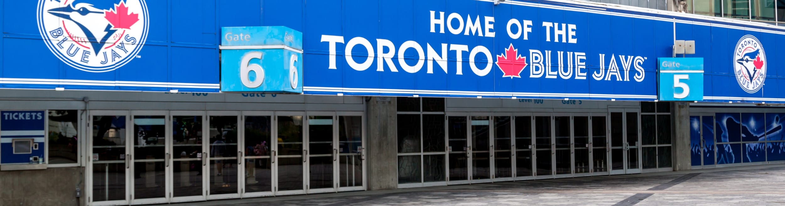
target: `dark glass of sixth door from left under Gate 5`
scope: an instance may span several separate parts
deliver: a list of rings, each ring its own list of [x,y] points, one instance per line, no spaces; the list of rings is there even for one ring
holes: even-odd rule
[[[570,151],[570,117],[569,116],[555,116],[553,117],[553,125],[555,125],[556,134],[556,174],[571,174],[572,173],[572,152]]]

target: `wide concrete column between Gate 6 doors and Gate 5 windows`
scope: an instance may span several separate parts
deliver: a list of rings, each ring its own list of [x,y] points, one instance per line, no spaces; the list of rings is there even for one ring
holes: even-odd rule
[[[366,97],[368,190],[398,188],[396,97]]]

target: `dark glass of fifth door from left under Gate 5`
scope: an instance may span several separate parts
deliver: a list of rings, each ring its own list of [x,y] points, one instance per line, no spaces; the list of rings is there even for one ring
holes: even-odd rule
[[[552,152],[550,150],[550,116],[535,116],[535,139],[536,139],[536,175],[553,175],[553,163],[551,163]]]

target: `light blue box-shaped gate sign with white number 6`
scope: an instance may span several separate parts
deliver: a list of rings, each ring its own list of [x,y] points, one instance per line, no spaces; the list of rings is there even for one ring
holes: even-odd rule
[[[221,30],[222,92],[302,93],[300,31],[286,27]]]

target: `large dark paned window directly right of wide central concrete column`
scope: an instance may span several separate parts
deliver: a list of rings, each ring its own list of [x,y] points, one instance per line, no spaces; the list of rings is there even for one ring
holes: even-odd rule
[[[444,182],[444,98],[397,97],[398,183]]]

